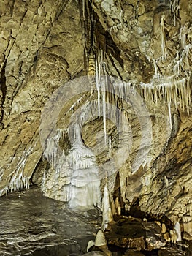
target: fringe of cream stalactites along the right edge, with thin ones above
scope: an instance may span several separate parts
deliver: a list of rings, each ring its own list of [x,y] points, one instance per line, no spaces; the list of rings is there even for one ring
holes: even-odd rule
[[[174,15],[174,24],[176,23],[177,12],[179,10],[178,1],[170,1],[171,10]],[[169,76],[164,76],[158,67],[158,61],[167,61],[168,51],[166,49],[165,37],[165,15],[162,15],[160,22],[161,31],[161,52],[159,59],[153,58],[155,74],[150,83],[141,83],[141,91],[146,102],[155,102],[158,99],[167,105],[169,110],[173,104],[175,108],[179,105],[183,111],[190,111],[191,105],[191,61],[192,61],[192,42],[191,42],[191,24],[186,23],[180,29],[180,50],[177,50],[176,56],[172,59],[172,69]],[[170,66],[170,65],[169,65]]]

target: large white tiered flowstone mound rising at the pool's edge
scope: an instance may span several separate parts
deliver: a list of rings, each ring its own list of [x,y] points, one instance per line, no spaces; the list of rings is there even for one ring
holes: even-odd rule
[[[78,118],[77,118],[78,116]],[[62,131],[57,130],[54,147],[45,152],[46,157],[54,159],[54,169],[50,169],[42,178],[42,191],[45,195],[56,200],[69,202],[72,208],[100,207],[100,177],[96,159],[90,148],[87,148],[81,138],[81,118],[75,113],[73,123],[69,125],[69,140],[72,148],[68,155],[64,151],[58,153],[58,142],[63,137]]]

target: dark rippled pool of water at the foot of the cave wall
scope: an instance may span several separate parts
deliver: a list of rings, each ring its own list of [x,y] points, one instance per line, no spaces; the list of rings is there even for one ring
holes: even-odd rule
[[[37,187],[0,197],[0,255],[81,255],[101,226],[96,209],[75,212]]]

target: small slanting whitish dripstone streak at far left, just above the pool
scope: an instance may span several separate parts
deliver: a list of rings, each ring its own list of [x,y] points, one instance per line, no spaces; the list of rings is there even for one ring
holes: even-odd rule
[[[12,190],[21,190],[23,188],[29,188],[29,178],[30,177],[23,177],[24,167],[26,165],[26,159],[28,155],[31,154],[33,148],[29,147],[20,158],[18,162],[17,169],[14,170],[11,180],[9,181],[8,191]]]

